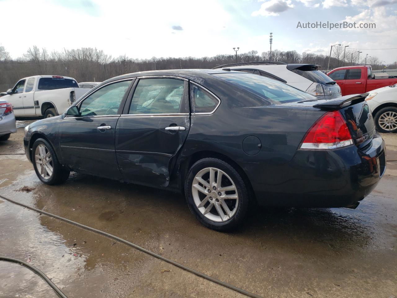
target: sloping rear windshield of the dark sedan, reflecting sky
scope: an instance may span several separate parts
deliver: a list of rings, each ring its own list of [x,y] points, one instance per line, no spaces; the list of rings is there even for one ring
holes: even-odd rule
[[[249,91],[260,95],[274,104],[291,103],[293,101],[303,101],[316,99],[316,97],[295,89],[287,84],[274,79],[262,77],[260,75],[248,73],[216,74],[222,79],[235,83]]]

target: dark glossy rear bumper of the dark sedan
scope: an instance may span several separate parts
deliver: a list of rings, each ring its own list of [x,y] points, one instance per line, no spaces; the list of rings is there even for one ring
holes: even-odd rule
[[[386,169],[385,143],[378,134],[364,149],[299,150],[291,162],[245,163],[260,205],[347,207],[366,197]]]

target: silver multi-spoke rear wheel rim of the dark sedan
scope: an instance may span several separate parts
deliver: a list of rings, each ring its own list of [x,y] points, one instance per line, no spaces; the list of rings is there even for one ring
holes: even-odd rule
[[[193,179],[192,194],[198,211],[211,221],[227,221],[237,211],[237,188],[229,175],[218,168],[200,170]]]

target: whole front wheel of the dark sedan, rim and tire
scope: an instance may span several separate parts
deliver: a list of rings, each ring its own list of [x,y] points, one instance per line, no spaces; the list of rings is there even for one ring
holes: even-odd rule
[[[37,139],[32,148],[32,162],[37,177],[45,184],[60,184],[70,171],[59,163],[55,151],[45,139]]]

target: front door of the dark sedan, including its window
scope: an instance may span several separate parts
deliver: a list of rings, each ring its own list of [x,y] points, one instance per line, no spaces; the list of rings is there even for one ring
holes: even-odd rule
[[[104,85],[77,104],[80,116],[60,120],[62,163],[96,176],[120,179],[114,136],[133,80]]]

